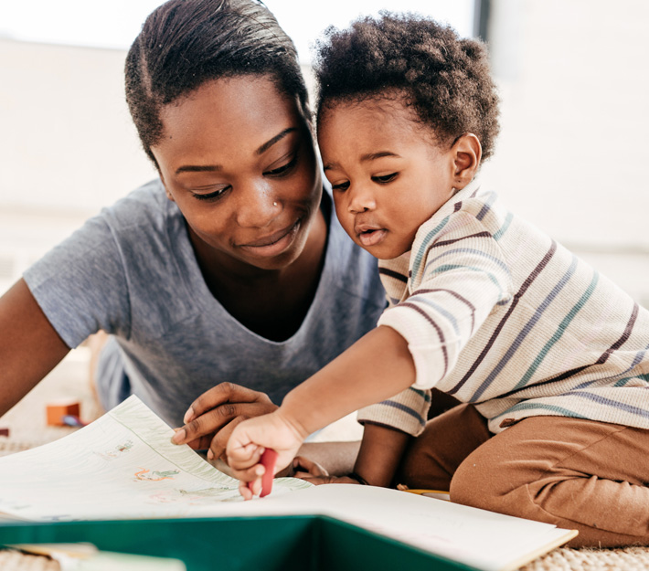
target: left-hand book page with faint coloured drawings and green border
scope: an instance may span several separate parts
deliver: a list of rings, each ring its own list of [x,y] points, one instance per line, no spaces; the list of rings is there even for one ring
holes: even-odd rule
[[[242,503],[239,481],[172,444],[173,434],[129,397],[63,439],[0,458],[0,512],[45,522],[189,517],[215,503]],[[311,486],[278,478],[271,495]]]

